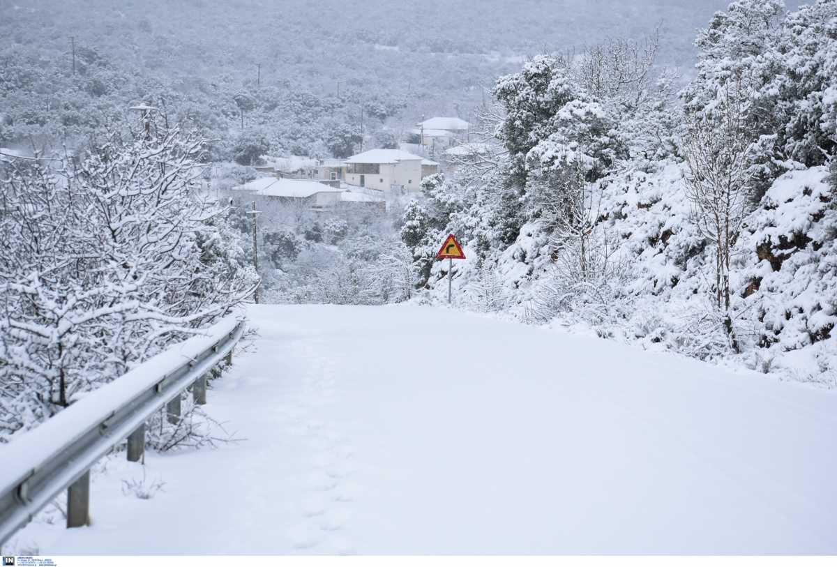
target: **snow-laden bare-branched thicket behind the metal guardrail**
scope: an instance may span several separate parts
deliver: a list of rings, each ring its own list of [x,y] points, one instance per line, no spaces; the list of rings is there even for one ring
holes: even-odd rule
[[[247,297],[203,142],[146,124],[77,159],[0,164],[0,438],[210,324]]]

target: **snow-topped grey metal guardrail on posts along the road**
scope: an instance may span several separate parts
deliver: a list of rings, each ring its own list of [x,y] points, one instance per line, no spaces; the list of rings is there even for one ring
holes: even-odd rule
[[[176,423],[189,386],[195,403],[206,403],[209,373],[225,357],[232,363],[244,328],[243,320],[223,319],[0,446],[0,544],[65,488],[67,527],[89,524],[90,467],[126,438],[128,460],[139,461],[146,421],[167,406]]]

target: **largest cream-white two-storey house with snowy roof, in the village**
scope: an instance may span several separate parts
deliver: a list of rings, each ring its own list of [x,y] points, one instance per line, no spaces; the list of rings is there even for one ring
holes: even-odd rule
[[[422,177],[438,171],[435,162],[402,150],[364,151],[345,163],[347,183],[387,192],[419,191]]]

